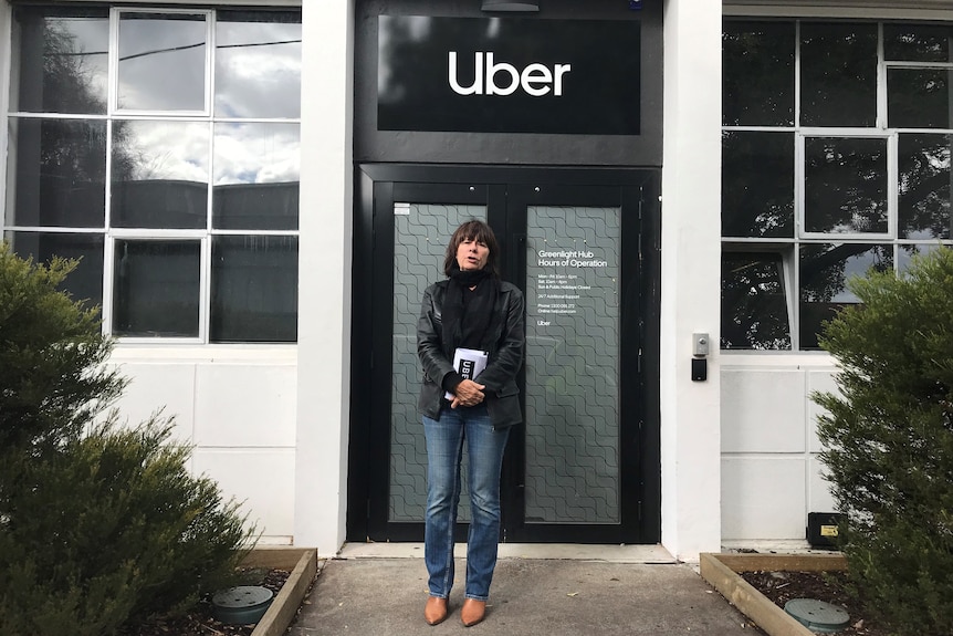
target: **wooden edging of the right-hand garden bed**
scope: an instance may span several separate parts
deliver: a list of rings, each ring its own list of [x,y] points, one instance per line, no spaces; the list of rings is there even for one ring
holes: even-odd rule
[[[825,572],[847,570],[840,554],[715,554],[699,557],[702,577],[769,636],[816,636],[739,572]]]

